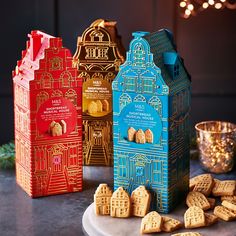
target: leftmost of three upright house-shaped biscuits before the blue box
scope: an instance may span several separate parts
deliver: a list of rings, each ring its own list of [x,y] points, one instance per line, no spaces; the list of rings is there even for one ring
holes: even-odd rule
[[[96,215],[110,215],[112,191],[107,184],[99,184],[94,194]]]

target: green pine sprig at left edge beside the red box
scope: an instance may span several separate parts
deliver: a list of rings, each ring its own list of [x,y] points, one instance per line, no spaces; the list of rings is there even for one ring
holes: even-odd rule
[[[0,146],[0,168],[12,169],[15,167],[15,144],[13,141]]]

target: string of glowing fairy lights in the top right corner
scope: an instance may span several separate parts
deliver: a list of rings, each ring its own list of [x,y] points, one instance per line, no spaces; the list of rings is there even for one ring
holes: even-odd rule
[[[180,0],[179,7],[181,16],[187,19],[208,8],[235,10],[236,0]]]

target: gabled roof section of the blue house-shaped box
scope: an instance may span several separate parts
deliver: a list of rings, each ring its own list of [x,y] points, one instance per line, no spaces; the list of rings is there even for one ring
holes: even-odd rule
[[[143,76],[151,73],[157,78],[157,85],[163,86],[163,94],[175,94],[190,85],[190,75],[183,60],[179,57],[173,36],[169,30],[159,30],[154,33],[134,32],[130,42],[127,59],[120,66],[120,71],[113,82],[113,90],[121,91],[124,86],[124,76]],[[178,79],[173,79],[169,65],[179,62]],[[158,91],[158,86],[157,90]]]

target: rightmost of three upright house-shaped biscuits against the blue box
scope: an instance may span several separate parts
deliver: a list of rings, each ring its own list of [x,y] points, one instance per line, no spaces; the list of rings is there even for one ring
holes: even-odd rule
[[[145,186],[141,185],[131,194],[131,211],[134,216],[144,217],[150,207],[151,195]]]

